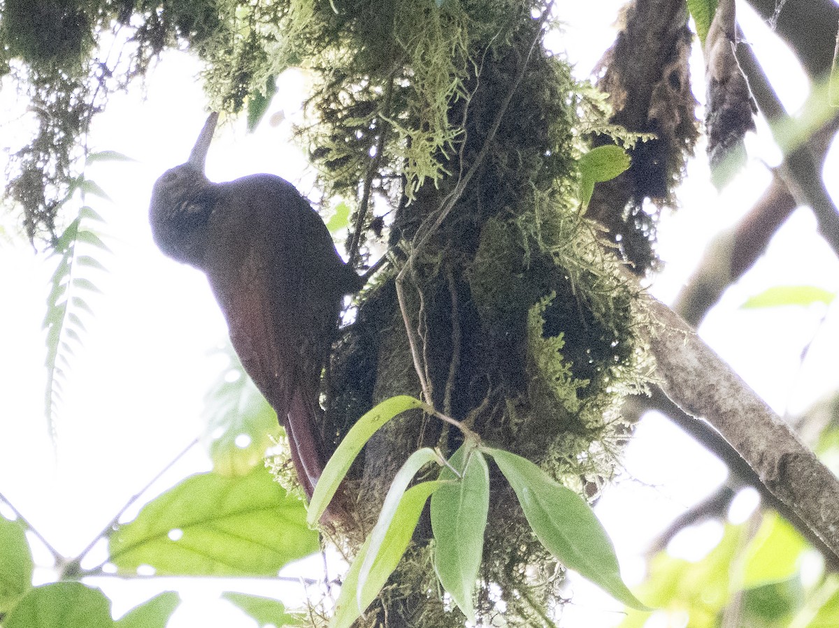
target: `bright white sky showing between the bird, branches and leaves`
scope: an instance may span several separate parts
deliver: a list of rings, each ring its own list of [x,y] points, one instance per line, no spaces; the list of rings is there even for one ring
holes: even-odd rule
[[[621,3],[600,0],[597,10],[577,8],[584,3],[568,4],[574,7],[567,13],[560,8],[567,29],[555,42],[557,48],[568,49],[578,75],[584,76],[611,44],[611,24]],[[765,56],[779,47],[766,38],[758,19],[745,10],[740,18],[770,78],[780,77],[775,86],[784,104],[795,112],[807,89],[800,69],[789,54]],[[701,58],[697,59],[694,79],[701,81]],[[57,425],[57,457],[44,420],[45,350],[40,330],[55,260],[35,256],[23,238],[0,242],[0,492],[68,556],[80,552],[133,493],[201,432],[203,398],[221,366],[207,358],[211,348],[226,340],[227,331],[206,280],[200,272],[164,257],[154,247],[147,222],[154,180],[185,161],[206,117],[199,69],[186,54],[166,54],[149,76],[145,93],[135,87],[128,95],[112,96],[107,112],[96,118],[91,149],[115,150],[136,161],[96,164],[86,172],[113,200],[88,199],[107,221],[104,239],[113,254],[102,258],[108,272],[96,283],[103,294],[89,298],[96,317],[86,321],[83,347],[71,359]],[[289,123],[276,127],[268,123],[275,112],[294,116],[304,88],[304,75],[284,75],[268,115],[253,135],[245,131],[243,119],[226,122],[216,132],[208,158],[210,179],[270,172],[316,197],[311,172],[304,171],[305,154],[290,143]],[[8,92],[4,84],[0,106],[8,106]],[[704,100],[701,94],[697,97]],[[8,137],[18,122],[0,115],[0,134]],[[765,127],[761,132],[765,136]],[[680,194],[684,205],[678,213],[666,215],[660,228],[659,252],[667,266],[654,292],[661,298],[675,296],[708,238],[736,222],[763,191],[770,174],[761,160],[774,165],[779,153],[765,140],[754,139],[747,176],[720,195],[708,181],[704,145],[697,148],[698,158],[690,164]],[[828,169],[836,170],[836,159],[835,155],[828,159]],[[781,413],[807,407],[839,387],[835,309],[827,313],[738,309],[749,295],[785,283],[839,289],[839,263],[816,234],[809,210],[796,211],[767,255],[727,291],[701,328],[706,341]],[[810,356],[800,367],[800,352],[814,334]],[[607,490],[597,511],[618,548],[625,575],[635,580],[643,568],[639,557],[655,532],[711,492],[725,470],[677,428],[655,416],[644,418],[638,427],[626,466],[639,482],[625,481]],[[192,449],[148,498],[209,467],[201,449]],[[704,536],[688,537],[674,550],[681,546],[685,555],[691,549],[696,555],[701,539],[706,543],[713,535],[706,530]],[[50,574],[40,571],[37,577]],[[91,584],[112,596],[117,616],[159,590],[178,588],[185,604],[170,622],[172,628],[255,625],[230,605],[211,600],[214,592],[237,588],[235,581],[222,585],[209,579],[201,584],[182,579],[162,584],[100,579]],[[279,594],[274,584],[254,589],[240,582],[238,588]],[[621,619],[609,610],[618,605],[604,602],[589,585],[578,579],[573,589],[576,595],[565,612],[566,625],[607,626]],[[285,601],[293,604],[300,599],[300,590],[286,589]]]

